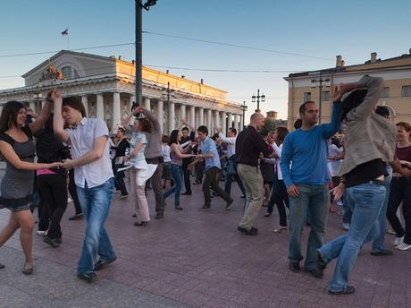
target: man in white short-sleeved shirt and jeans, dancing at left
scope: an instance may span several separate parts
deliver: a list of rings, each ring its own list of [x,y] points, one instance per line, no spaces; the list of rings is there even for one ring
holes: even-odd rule
[[[55,134],[71,145],[72,160],[66,159],[62,167],[75,169],[80,206],[87,221],[77,276],[90,283],[96,278],[96,270],[116,259],[104,227],[114,186],[108,129],[103,120],[86,117],[78,98],[63,99],[58,90],[53,90],[52,98],[55,101]],[[63,122],[71,128],[64,130]],[[100,258],[95,263],[97,254]]]

